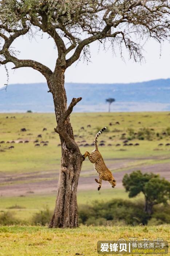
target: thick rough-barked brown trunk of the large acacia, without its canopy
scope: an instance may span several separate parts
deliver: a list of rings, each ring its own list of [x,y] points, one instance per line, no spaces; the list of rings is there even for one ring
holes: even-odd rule
[[[53,95],[56,121],[60,120],[67,110],[67,97],[64,89],[64,69],[58,68],[56,75],[52,75],[48,86]],[[77,186],[82,167],[83,156],[75,143],[70,118],[67,117],[55,131],[59,133],[62,145],[62,159],[57,188],[57,198],[54,214],[49,227],[77,227]]]

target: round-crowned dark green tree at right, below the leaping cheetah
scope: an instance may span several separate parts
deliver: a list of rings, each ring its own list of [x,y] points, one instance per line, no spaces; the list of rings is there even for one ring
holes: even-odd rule
[[[144,173],[140,170],[123,177],[123,186],[134,197],[142,192],[145,196],[145,212],[150,216],[155,204],[164,203],[170,199],[170,182],[159,178],[158,174]]]

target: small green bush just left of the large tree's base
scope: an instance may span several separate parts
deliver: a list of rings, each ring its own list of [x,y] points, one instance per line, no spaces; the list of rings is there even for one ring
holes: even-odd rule
[[[50,211],[48,207],[46,207],[44,210],[36,212],[33,215],[31,223],[32,225],[46,226],[51,221],[52,214],[53,212]]]

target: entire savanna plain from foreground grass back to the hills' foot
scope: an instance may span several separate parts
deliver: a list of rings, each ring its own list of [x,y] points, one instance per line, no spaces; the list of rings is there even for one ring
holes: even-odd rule
[[[114,189],[103,181],[98,192],[97,173],[86,159],[78,185],[80,211],[112,199],[142,203],[142,194],[129,199],[122,185],[124,174],[134,170],[170,181],[169,112],[73,113],[70,118],[82,154],[94,149],[95,134],[107,127],[99,137],[99,151],[117,181]],[[103,226],[101,219],[80,220],[80,227],[67,230],[33,226],[36,214],[50,215],[55,206],[61,158],[55,127],[52,113],[0,114],[0,255],[97,255],[98,240],[162,237],[168,241],[170,225],[156,219],[148,226],[140,220],[134,225],[113,220]]]

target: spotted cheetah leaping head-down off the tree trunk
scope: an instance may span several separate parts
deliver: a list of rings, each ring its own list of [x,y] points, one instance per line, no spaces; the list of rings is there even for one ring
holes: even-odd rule
[[[95,181],[97,183],[99,183],[99,187],[98,190],[100,190],[101,186],[102,186],[102,180],[106,180],[110,183],[111,187],[114,188],[116,185],[116,181],[114,176],[112,175],[111,171],[107,168],[107,166],[104,163],[103,157],[100,154],[99,150],[98,150],[98,146],[97,146],[97,138],[98,136],[104,131],[106,130],[106,127],[104,127],[103,129],[101,129],[95,136],[94,139],[94,145],[95,145],[95,149],[89,153],[88,151],[86,151],[86,153],[83,155],[84,156],[84,160],[86,157],[89,158],[91,163],[94,163],[94,169],[96,170],[96,172],[98,172],[99,174],[99,181],[97,179],[95,179]]]

